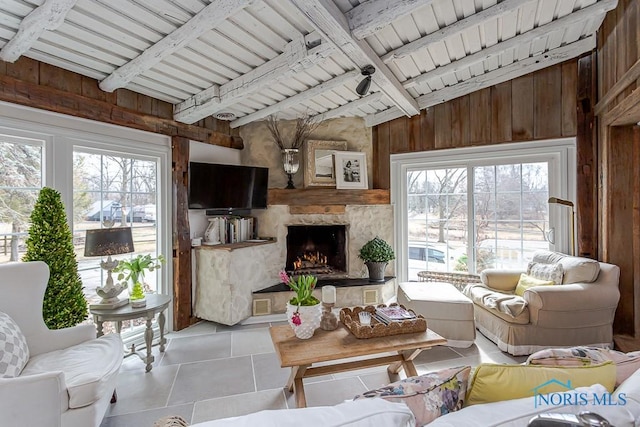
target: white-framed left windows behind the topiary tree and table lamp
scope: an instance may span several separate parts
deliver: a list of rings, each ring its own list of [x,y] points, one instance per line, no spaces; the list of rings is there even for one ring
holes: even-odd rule
[[[98,257],[84,257],[87,229],[114,220],[133,229],[135,252],[123,257],[170,258],[168,137],[0,103],[0,155],[0,244],[6,245],[0,262],[24,255],[29,217],[44,186],[62,196],[88,303],[98,299],[95,288],[105,277]],[[170,278],[165,264],[145,282],[170,294]]]

